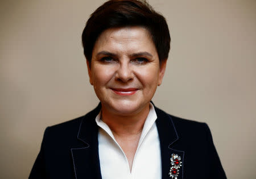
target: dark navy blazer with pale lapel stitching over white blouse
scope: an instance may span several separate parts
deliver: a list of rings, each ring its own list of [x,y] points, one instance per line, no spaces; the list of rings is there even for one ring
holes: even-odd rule
[[[98,105],[85,116],[47,127],[29,178],[101,179],[95,121],[100,109]],[[226,178],[206,123],[180,119],[157,107],[155,111],[162,179],[170,179],[172,153],[182,160],[177,179]],[[151,162],[150,156],[146,160]]]

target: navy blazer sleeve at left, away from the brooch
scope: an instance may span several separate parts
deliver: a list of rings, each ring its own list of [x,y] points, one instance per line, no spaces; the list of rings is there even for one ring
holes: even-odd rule
[[[46,147],[46,141],[48,137],[48,127],[44,131],[44,137],[41,145],[40,152],[38,154],[38,157],[36,157],[36,161],[33,165],[33,168],[30,172],[30,176],[28,179],[41,179],[46,178],[46,161],[44,157],[44,148]]]

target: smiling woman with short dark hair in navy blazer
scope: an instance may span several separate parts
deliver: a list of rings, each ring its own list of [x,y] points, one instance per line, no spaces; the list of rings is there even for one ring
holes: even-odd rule
[[[82,44],[100,104],[46,129],[30,178],[226,178],[207,124],[151,102],[170,50],[162,15],[143,1],[108,1]]]

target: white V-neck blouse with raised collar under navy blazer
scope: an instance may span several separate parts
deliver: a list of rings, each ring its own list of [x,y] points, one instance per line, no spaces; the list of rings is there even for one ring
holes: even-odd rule
[[[100,119],[100,116],[101,113],[96,116],[96,123],[100,127],[98,152],[102,179],[162,178],[160,141],[155,124],[157,116],[154,106],[150,103],[150,111],[143,126],[131,172],[125,152],[118,145],[109,126]]]

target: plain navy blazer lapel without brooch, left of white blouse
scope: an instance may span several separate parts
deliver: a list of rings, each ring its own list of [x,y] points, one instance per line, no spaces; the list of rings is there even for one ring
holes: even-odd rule
[[[95,122],[96,115],[101,106],[84,116],[81,120],[77,139],[83,147],[71,148],[73,167],[76,179],[93,178],[101,179],[100,160],[98,156],[98,126]]]

